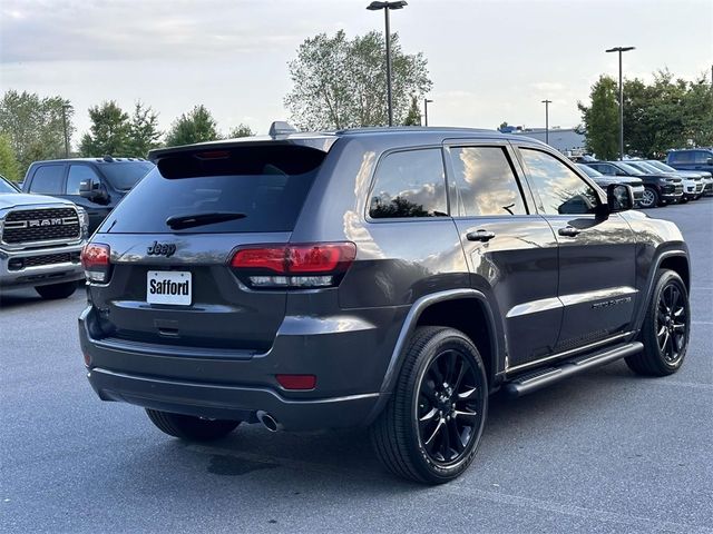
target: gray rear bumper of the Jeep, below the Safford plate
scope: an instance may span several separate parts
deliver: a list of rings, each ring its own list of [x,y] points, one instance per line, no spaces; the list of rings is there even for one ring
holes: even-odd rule
[[[401,312],[391,309],[392,319]],[[319,319],[319,328],[287,317],[272,348],[252,354],[99,338],[97,313],[88,307],[81,314],[79,339],[87,377],[102,400],[252,423],[263,411],[294,431],[369,424],[382,405],[380,386],[399,332],[384,335],[363,316],[351,324],[334,320],[333,327]],[[313,374],[316,388],[285,390],[276,374]]]

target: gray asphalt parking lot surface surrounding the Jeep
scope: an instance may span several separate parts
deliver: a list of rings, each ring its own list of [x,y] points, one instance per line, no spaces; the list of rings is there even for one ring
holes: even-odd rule
[[[78,291],[0,309],[1,532],[713,532],[713,198],[649,211],[693,258],[682,370],[624,363],[518,400],[491,399],[456,482],[388,475],[363,432],[241,426],[187,445],[85,379]]]

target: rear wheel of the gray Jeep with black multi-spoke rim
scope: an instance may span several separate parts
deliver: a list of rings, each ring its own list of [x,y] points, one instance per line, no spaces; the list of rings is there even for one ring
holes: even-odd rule
[[[475,345],[453,328],[420,327],[371,427],[372,444],[393,474],[442,484],[472,463],[487,412],[488,380]]]

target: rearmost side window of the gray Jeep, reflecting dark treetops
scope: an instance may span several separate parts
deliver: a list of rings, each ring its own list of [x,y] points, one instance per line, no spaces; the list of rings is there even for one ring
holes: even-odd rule
[[[441,150],[408,150],[383,158],[377,168],[369,215],[375,219],[447,216]]]

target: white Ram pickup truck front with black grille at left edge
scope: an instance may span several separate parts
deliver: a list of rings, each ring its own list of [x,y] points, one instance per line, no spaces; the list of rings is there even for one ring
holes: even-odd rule
[[[0,177],[0,306],[2,293],[35,287],[42,298],[66,298],[84,279],[87,212],[68,200],[25,195]]]

